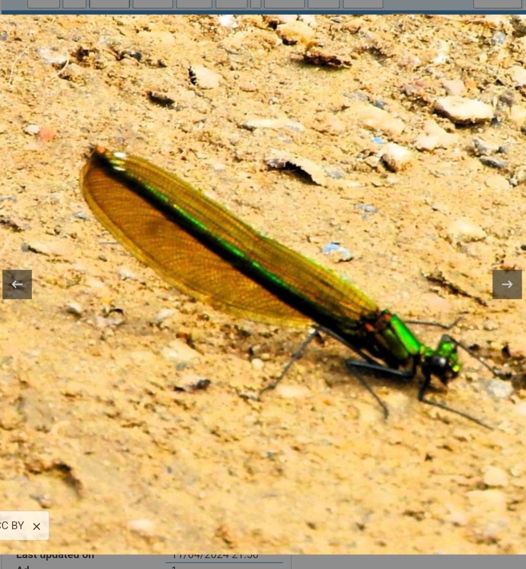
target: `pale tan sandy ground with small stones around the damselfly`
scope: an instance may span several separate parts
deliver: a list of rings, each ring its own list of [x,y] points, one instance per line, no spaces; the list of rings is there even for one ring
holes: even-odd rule
[[[0,266],[33,275],[32,300],[0,304],[0,501],[51,516],[50,541],[0,552],[526,552],[520,381],[512,389],[462,353],[461,376],[433,394],[490,431],[418,403],[417,381],[371,376],[384,420],[346,372],[348,351],[327,340],[280,389],[243,398],[280,373],[305,331],[179,294],[114,242],[78,182],[93,143],[145,156],[381,307],[461,315],[451,333],[520,374],[524,300],[491,299],[492,270],[525,265],[519,24],[226,23],[0,20]],[[311,40],[323,44],[314,63],[303,58]],[[445,81],[495,120],[435,114]],[[371,108],[384,118],[367,123]],[[419,151],[430,120],[456,137]],[[502,168],[480,160],[474,137]],[[401,170],[377,157],[387,142],[410,151]],[[276,150],[314,173],[270,169]],[[352,260],[324,255],[331,242]],[[432,345],[441,335],[414,329]],[[204,378],[206,390],[188,390]]]

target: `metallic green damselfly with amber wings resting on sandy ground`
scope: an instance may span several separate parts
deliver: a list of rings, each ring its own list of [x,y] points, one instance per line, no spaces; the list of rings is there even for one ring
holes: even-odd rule
[[[446,385],[461,369],[458,343],[443,335],[422,344],[395,314],[336,273],[258,233],[191,184],[137,156],[94,148],[81,173],[85,200],[135,257],[179,290],[242,318],[308,327],[315,324],[358,354],[347,366],[379,401],[356,365],[424,376]],[[484,425],[486,426],[486,425]]]

